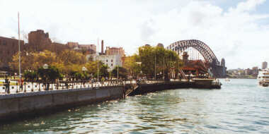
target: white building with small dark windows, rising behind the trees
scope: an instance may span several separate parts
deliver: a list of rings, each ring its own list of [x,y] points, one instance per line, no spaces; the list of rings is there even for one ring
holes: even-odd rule
[[[102,61],[105,65],[108,65],[108,71],[112,71],[116,66],[122,66],[122,60],[120,55],[91,55],[87,56],[93,58],[93,61]]]

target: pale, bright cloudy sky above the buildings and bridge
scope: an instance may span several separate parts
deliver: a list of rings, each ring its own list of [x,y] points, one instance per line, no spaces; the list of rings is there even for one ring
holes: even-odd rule
[[[269,62],[268,7],[268,0],[0,0],[0,36],[18,38],[19,11],[21,37],[41,29],[54,42],[103,39],[127,55],[144,44],[199,39],[228,69],[252,68]]]

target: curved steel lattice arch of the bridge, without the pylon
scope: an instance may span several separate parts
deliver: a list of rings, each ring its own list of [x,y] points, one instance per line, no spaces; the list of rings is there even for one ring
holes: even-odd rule
[[[197,39],[190,39],[190,40],[181,40],[178,42],[174,42],[170,44],[167,49],[171,49],[172,51],[176,51],[178,54],[193,47],[203,56],[206,61],[209,61],[213,66],[220,66],[220,62],[215,56],[214,52],[210,47],[207,46],[204,42],[201,42]]]

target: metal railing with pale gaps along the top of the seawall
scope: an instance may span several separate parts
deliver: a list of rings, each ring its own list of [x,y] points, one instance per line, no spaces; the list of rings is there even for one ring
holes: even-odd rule
[[[109,87],[118,86],[126,84],[136,84],[136,83],[154,83],[152,80],[104,80],[97,82],[96,80],[75,80],[75,81],[24,81],[20,86],[19,83],[16,84],[1,84],[0,85],[0,95],[6,94],[16,94],[23,92],[40,92],[46,90],[70,90],[70,89],[96,89],[98,87]]]

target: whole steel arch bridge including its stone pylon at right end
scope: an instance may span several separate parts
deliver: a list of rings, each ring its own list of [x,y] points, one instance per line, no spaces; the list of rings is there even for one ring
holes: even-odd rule
[[[225,61],[222,59],[221,62],[217,59],[214,52],[207,44],[200,40],[190,39],[181,40],[170,44],[167,49],[176,51],[177,54],[181,55],[183,52],[187,52],[188,60],[200,60],[208,65],[208,72],[214,77],[223,78],[226,76]]]

